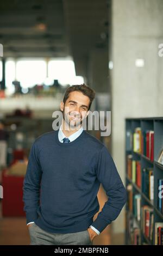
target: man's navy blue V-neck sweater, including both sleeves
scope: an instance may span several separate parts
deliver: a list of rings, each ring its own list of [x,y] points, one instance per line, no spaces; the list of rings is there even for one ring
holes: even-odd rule
[[[108,200],[93,221],[101,183]],[[91,224],[101,232],[120,214],[126,189],[102,142],[83,130],[71,143],[61,143],[58,131],[52,131],[32,145],[23,201],[27,223],[48,232],[74,233]]]

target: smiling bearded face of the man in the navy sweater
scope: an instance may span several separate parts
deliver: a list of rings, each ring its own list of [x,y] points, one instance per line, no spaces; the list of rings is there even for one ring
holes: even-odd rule
[[[60,109],[68,126],[74,128],[82,124],[89,114],[89,104],[89,97],[80,92],[71,92],[65,104],[61,102]]]

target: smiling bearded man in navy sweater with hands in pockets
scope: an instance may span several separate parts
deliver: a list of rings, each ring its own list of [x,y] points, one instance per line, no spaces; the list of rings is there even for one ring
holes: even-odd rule
[[[32,145],[23,186],[30,245],[92,245],[126,203],[109,151],[82,127],[94,98],[85,84],[68,87],[60,129]],[[93,222],[101,183],[109,199]]]

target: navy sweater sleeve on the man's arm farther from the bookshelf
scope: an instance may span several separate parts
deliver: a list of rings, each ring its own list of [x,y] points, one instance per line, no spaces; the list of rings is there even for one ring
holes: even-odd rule
[[[34,142],[30,149],[27,172],[23,182],[23,202],[27,223],[35,221],[38,217],[41,175],[38,151]]]

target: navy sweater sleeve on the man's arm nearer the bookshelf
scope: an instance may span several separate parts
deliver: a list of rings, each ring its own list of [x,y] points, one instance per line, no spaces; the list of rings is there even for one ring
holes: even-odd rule
[[[126,203],[127,193],[108,149],[103,146],[96,164],[97,179],[109,197],[92,226],[100,232],[114,221]]]

